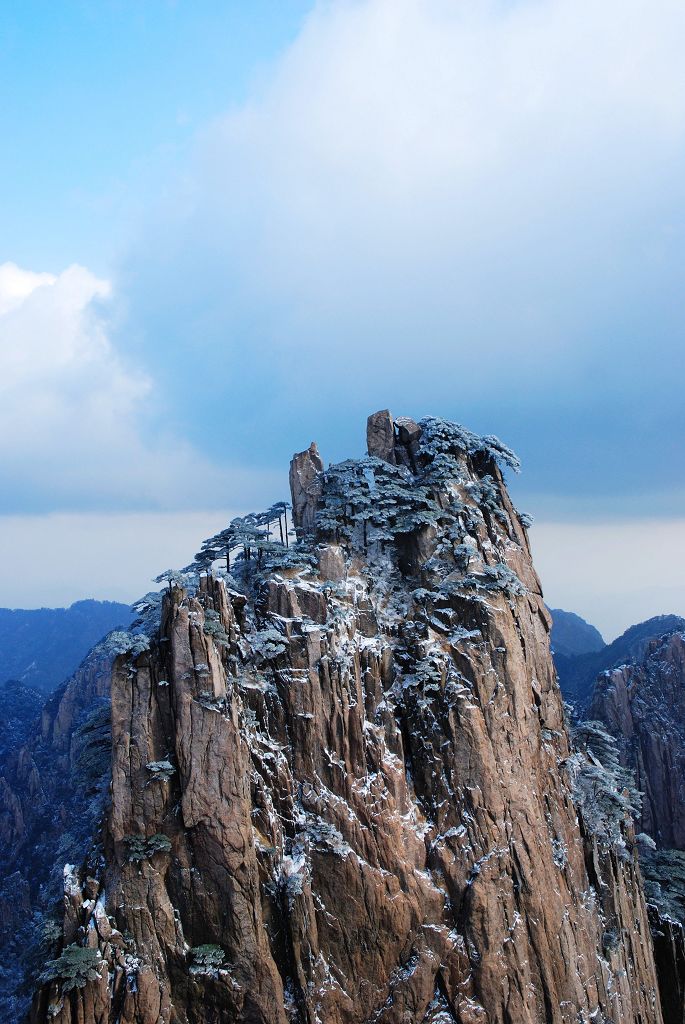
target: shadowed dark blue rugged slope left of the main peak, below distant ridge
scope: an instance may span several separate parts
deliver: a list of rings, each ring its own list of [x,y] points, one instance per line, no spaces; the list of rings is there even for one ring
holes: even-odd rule
[[[0,1020],[18,1021],[61,933],[62,871],[97,834],[110,782],[111,668],[128,634],[96,645],[48,700],[0,691]],[[59,927],[57,926],[59,922]]]

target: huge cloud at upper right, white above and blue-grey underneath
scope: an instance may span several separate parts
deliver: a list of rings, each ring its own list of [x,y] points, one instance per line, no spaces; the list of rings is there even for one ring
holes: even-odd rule
[[[668,514],[683,33],[677,0],[318,4],[166,182],[122,344],[164,339],[215,457],[344,457],[390,404],[504,435],[540,509]]]

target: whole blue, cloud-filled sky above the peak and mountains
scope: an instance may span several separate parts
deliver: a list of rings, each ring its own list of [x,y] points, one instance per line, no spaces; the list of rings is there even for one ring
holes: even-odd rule
[[[369,413],[521,457],[553,606],[685,614],[680,0],[0,6],[0,603],[134,599]]]

